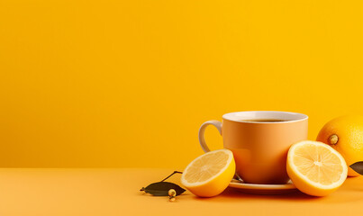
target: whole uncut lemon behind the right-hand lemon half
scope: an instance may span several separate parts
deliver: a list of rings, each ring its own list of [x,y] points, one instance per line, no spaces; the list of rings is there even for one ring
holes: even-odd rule
[[[316,140],[340,152],[347,166],[363,161],[363,116],[346,115],[327,122]],[[349,167],[348,175],[359,174]]]

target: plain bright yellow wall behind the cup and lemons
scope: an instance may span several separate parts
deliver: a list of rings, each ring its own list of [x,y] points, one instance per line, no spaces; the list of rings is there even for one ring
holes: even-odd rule
[[[182,169],[236,111],[315,139],[362,112],[362,39],[361,1],[0,0],[0,166]]]

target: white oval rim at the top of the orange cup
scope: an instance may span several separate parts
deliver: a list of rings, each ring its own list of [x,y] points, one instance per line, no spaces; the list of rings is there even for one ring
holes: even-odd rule
[[[289,118],[282,118],[286,121],[268,121],[268,122],[263,122],[263,121],[242,121],[242,120],[237,120],[236,117],[242,117],[243,114],[246,116],[248,114],[250,114],[250,118],[251,119],[256,119],[256,118],[261,118],[261,117],[252,117],[253,114],[257,114],[257,113],[265,113],[265,114],[272,114],[275,115],[276,117],[269,117],[269,118],[282,118],[282,115],[285,115],[287,117],[291,117],[291,119]],[[239,115],[240,114],[240,115]],[[278,117],[277,117],[278,116]],[[234,119],[233,119],[234,117]],[[295,118],[292,118],[295,117]],[[248,120],[248,117],[246,120]],[[264,118],[268,118],[268,117],[264,117]],[[309,117],[303,113],[299,113],[299,112],[284,112],[284,111],[242,111],[242,112],[229,112],[229,113],[225,113],[222,115],[222,119],[223,120],[228,120],[228,121],[235,121],[235,122],[240,122],[240,123],[254,123],[254,124],[281,124],[281,123],[291,123],[291,122],[297,122],[297,121],[305,121],[307,119],[309,119]]]

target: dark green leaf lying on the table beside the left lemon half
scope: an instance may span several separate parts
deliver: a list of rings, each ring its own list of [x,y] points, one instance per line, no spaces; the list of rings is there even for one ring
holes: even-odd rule
[[[186,191],[179,185],[169,182],[157,182],[149,184],[145,188],[142,187],[141,191],[145,191],[146,193],[150,193],[156,196],[168,196],[168,191],[170,189],[174,189],[177,192],[177,195],[180,195],[181,193],[184,193]]]

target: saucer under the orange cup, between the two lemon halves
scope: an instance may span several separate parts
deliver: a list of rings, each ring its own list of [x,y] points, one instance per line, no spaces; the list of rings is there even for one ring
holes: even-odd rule
[[[240,180],[232,179],[229,187],[242,192],[253,194],[284,194],[297,191],[295,185],[288,181],[287,184],[247,184]]]

